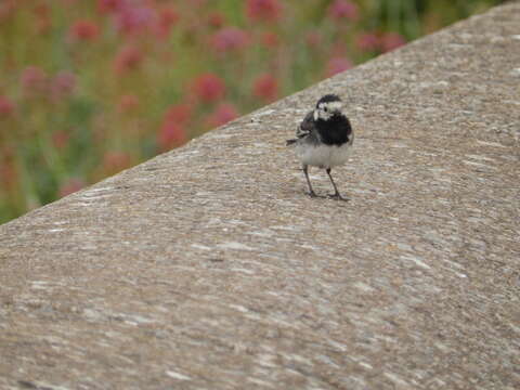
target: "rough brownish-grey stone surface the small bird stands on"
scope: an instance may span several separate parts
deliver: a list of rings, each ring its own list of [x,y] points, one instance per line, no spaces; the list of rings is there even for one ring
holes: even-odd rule
[[[519,26],[471,17],[0,226],[0,388],[520,388]],[[326,92],[349,203],[284,147]]]

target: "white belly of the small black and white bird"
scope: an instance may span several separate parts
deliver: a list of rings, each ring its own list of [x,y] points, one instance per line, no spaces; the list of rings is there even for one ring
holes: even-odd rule
[[[332,168],[347,162],[349,158],[350,144],[341,146],[328,145],[298,145],[296,153],[304,165],[320,168]]]

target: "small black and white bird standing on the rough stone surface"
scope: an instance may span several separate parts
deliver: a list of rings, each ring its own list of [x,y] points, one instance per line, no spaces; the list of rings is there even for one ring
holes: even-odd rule
[[[307,114],[296,130],[296,139],[287,140],[287,145],[295,146],[296,155],[301,161],[311,197],[315,197],[316,193],[309,180],[309,166],[325,169],[335,191],[329,195],[332,198],[347,200],[330,176],[333,167],[347,162],[354,142],[352,127],[342,108],[339,96],[326,94],[317,101],[316,107]]]

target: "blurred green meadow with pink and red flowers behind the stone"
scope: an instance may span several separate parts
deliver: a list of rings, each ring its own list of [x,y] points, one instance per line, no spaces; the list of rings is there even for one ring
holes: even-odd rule
[[[0,0],[0,223],[499,0]]]

